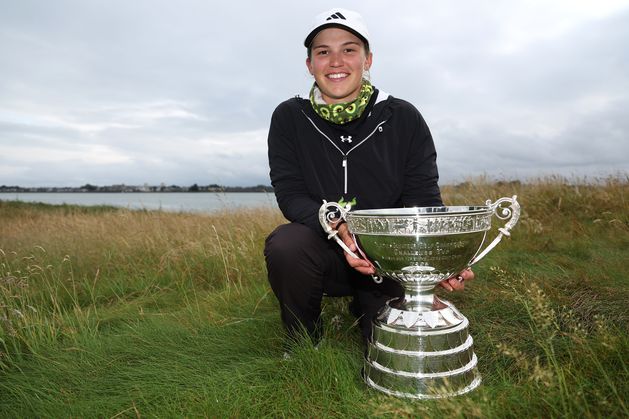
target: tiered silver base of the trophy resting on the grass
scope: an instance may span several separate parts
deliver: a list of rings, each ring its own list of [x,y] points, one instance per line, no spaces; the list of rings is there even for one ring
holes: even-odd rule
[[[387,302],[373,324],[363,378],[386,394],[414,399],[453,397],[481,383],[469,321],[452,303],[409,311]]]

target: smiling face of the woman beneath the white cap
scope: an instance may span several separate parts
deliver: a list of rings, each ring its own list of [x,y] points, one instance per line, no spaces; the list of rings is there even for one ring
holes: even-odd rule
[[[312,41],[308,71],[326,103],[351,102],[358,97],[363,70],[371,67],[372,54],[357,36],[343,29],[327,28]]]

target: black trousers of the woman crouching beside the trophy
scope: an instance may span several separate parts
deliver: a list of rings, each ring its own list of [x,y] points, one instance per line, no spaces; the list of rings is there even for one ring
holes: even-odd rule
[[[317,341],[321,334],[321,300],[353,296],[353,312],[365,341],[371,339],[371,322],[384,303],[404,295],[399,283],[384,278],[376,284],[370,276],[351,268],[340,246],[298,223],[277,227],[266,239],[264,256],[271,288],[289,336],[301,330]]]

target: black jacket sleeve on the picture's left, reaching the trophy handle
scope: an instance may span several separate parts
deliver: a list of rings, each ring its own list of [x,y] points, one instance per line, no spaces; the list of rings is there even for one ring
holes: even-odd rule
[[[319,207],[323,202],[317,202],[308,193],[296,149],[298,140],[288,104],[280,104],[273,112],[269,128],[271,185],[287,220],[307,225],[323,234],[318,218]]]

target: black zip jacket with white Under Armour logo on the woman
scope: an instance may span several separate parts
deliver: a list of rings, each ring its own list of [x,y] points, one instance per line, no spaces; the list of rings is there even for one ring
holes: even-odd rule
[[[269,129],[271,184],[292,222],[323,232],[323,200],[353,209],[442,205],[435,146],[410,103],[376,90],[363,115],[336,125],[310,101],[295,97],[273,112]]]

